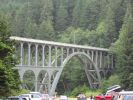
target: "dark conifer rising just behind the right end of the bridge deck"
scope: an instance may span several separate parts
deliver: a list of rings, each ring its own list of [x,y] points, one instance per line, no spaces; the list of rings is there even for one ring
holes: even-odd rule
[[[107,7],[107,14],[104,20],[104,34],[103,34],[103,45],[104,47],[110,47],[112,43],[116,41],[116,37],[118,33],[116,32],[115,26],[115,16],[112,8],[110,6]]]

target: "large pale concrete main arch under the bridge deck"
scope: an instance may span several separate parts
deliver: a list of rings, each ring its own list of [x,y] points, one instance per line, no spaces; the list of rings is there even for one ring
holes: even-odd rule
[[[97,84],[100,83],[101,77],[100,77],[99,68],[98,68],[98,67],[95,65],[95,63],[92,61],[91,57],[90,57],[88,54],[84,53],[84,52],[74,52],[74,53],[70,54],[68,57],[66,57],[65,60],[63,61],[63,64],[62,64],[62,66],[61,66],[62,69],[60,70],[60,72],[58,72],[58,74],[57,74],[57,76],[56,76],[56,81],[55,81],[55,82],[53,83],[53,85],[52,85],[50,95],[53,95],[53,93],[54,93],[54,91],[55,91],[55,89],[56,89],[57,83],[58,83],[58,81],[59,81],[59,78],[60,78],[60,76],[61,76],[61,73],[62,73],[64,67],[65,67],[66,64],[69,62],[69,60],[71,60],[74,56],[78,56],[78,58],[82,61],[82,63],[84,63],[84,65],[85,65],[84,67],[85,67],[85,72],[86,72],[86,74],[87,74],[87,70],[89,70],[89,69],[88,69],[88,66],[86,65],[85,60],[82,60],[79,56],[85,56],[85,57],[86,57],[86,61],[88,61],[89,64],[91,64],[91,65],[93,66],[93,68],[94,68],[93,70],[95,71],[95,75],[96,75],[96,76],[91,77],[89,74],[87,74],[87,78],[88,78],[90,87],[91,87],[91,88],[94,88],[94,86],[93,86],[94,82],[97,82]],[[92,69],[91,69],[91,70],[92,70]],[[94,78],[94,77],[95,77],[95,78]],[[58,81],[57,81],[57,80],[58,80]],[[92,80],[94,80],[94,81],[92,82]]]

